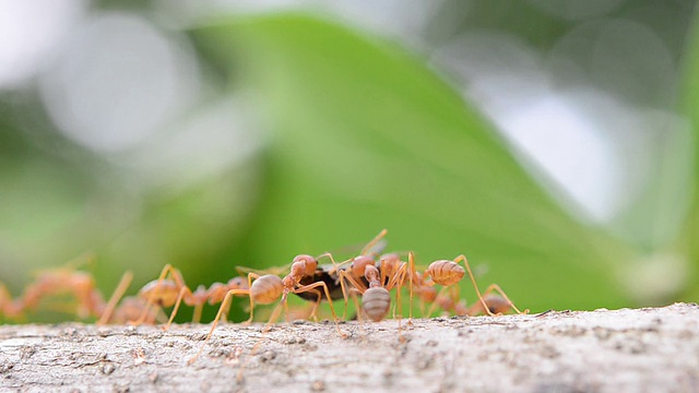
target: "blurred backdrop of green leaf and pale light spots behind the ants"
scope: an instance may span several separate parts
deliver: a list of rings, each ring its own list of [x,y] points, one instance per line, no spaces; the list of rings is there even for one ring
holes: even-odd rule
[[[532,311],[696,301],[695,7],[0,1],[0,281],[193,288],[388,228]]]

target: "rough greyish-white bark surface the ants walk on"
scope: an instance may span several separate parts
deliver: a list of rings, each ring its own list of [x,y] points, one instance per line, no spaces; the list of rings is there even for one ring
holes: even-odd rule
[[[403,320],[405,322],[405,320]],[[0,326],[0,390],[698,392],[699,307],[222,325]],[[257,347],[256,347],[257,345]],[[254,350],[253,350],[254,348]]]

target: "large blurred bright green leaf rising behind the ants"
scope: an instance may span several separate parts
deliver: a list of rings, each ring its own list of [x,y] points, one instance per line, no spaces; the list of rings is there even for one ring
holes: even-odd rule
[[[196,32],[218,64],[260,88],[279,131],[256,259],[283,264],[369,240],[419,262],[466,253],[532,309],[626,303],[619,243],[562,212],[491,127],[418,59],[311,17]],[[503,92],[506,94],[506,92]],[[298,247],[309,247],[299,249]]]

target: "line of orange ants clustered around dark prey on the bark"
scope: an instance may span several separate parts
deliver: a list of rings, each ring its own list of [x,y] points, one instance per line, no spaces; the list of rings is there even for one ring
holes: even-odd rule
[[[245,324],[254,320],[257,306],[276,303],[264,332],[279,319],[282,310],[287,320],[289,319],[289,294],[311,303],[310,311],[304,317],[316,322],[318,306],[322,300],[327,300],[334,329],[341,337],[345,337],[346,334],[340,329],[340,320],[356,318],[360,323],[365,320],[378,322],[386,319],[389,312],[399,321],[400,337],[403,291],[410,296],[408,324],[412,323],[414,300],[419,302],[424,318],[429,318],[437,309],[455,315],[493,317],[509,311],[520,314],[529,312],[520,311],[497,284],[491,284],[481,293],[469,261],[463,254],[453,260],[431,262],[423,271],[415,265],[413,252],[380,254],[386,246],[386,235],[387,230],[381,230],[358,255],[342,262],[336,262],[329,252],[318,257],[299,254],[289,265],[283,267],[266,271],[238,267],[240,276],[226,283],[214,283],[209,288],[200,285],[194,290],[185,284],[179,270],[168,264],[163,267],[158,278],[143,286],[137,296],[122,298],[132,279],[131,272],[127,272],[108,301],[104,300],[90,273],[60,267],[40,273],[17,298],[12,298],[0,284],[0,315],[5,320],[23,321],[25,313],[36,311],[44,299],[68,295],[74,298],[76,303],[68,312],[74,312],[80,319],[93,318],[97,324],[162,323],[162,329],[167,331],[182,302],[193,307],[193,323],[200,322],[202,309],[206,303],[221,305],[204,345],[197,356],[190,359],[191,362],[199,357],[217,324],[227,315],[234,298],[247,298],[250,314]],[[327,259],[329,263],[320,264],[321,259]],[[284,275],[284,272],[288,273]],[[466,306],[465,300],[459,295],[458,284],[466,273],[477,295],[477,300],[471,306]],[[436,286],[441,286],[441,289],[437,290]],[[392,291],[394,301],[391,309]],[[344,308],[342,315],[337,317],[333,300],[340,299],[343,300]],[[347,314],[350,301],[355,307],[356,315]],[[165,308],[171,308],[169,317],[164,314]]]

